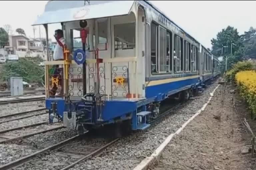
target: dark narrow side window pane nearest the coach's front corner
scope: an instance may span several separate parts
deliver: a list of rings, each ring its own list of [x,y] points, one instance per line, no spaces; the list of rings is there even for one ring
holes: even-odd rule
[[[158,72],[158,59],[157,59],[157,41],[158,41],[158,26],[155,23],[151,23],[151,72]]]

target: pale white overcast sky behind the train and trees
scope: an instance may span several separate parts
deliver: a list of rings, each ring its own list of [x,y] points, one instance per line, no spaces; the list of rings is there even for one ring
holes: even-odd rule
[[[211,39],[228,25],[238,29],[242,34],[252,26],[256,28],[256,1],[151,1],[171,20],[201,42],[211,47]],[[10,24],[13,31],[24,29],[29,37],[34,37],[31,24],[37,15],[44,11],[47,1],[0,1],[0,27]],[[181,10],[182,8],[182,10]],[[49,37],[59,25],[50,25]],[[45,30],[41,26],[41,35]],[[35,37],[39,37],[36,26]]]

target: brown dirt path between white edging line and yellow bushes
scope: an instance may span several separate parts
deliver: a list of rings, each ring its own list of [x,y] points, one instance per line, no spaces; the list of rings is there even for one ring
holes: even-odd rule
[[[230,86],[219,86],[204,111],[166,146],[154,170],[256,170],[256,160],[241,149],[250,144],[242,120],[246,104]],[[220,121],[214,118],[220,116]],[[249,121],[255,131],[256,122]],[[249,132],[248,132],[249,133]]]

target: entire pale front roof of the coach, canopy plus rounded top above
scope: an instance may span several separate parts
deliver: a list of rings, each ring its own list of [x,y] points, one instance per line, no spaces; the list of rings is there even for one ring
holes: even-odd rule
[[[71,3],[72,2],[72,3]],[[93,1],[91,1],[93,2]],[[81,1],[49,1],[33,25],[128,15],[134,1],[102,1],[84,6]]]

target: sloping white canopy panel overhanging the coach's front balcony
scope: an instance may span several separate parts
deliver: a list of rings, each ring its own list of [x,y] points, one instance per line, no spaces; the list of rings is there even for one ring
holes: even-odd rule
[[[53,24],[83,19],[128,15],[134,1],[112,1],[102,4],[85,5],[78,8],[46,11],[33,25]]]

